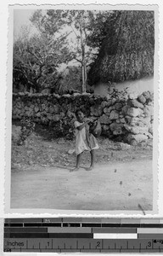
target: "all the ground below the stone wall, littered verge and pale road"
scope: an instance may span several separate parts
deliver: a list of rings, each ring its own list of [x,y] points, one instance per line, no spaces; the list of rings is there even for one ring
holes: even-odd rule
[[[111,211],[152,210],[152,142],[127,146],[99,138],[96,166],[88,152],[76,164],[74,142],[34,133],[12,146],[11,208]]]

